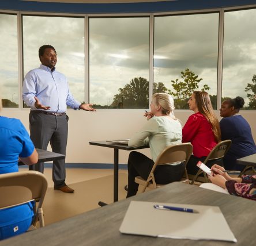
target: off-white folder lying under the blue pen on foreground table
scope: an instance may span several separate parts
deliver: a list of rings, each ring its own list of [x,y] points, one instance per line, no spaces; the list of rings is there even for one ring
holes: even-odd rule
[[[199,213],[155,209],[156,204],[187,207]],[[217,206],[131,201],[119,230],[172,239],[237,241]]]

